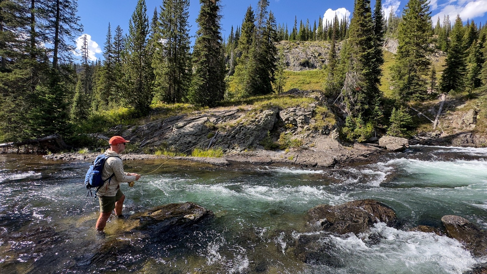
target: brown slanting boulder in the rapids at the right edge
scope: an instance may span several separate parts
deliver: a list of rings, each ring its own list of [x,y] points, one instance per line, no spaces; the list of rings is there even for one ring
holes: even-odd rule
[[[441,218],[447,235],[461,242],[475,256],[487,255],[487,233],[467,219],[456,215]]]

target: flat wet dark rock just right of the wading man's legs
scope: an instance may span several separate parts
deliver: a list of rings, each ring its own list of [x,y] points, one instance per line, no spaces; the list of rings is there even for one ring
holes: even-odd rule
[[[173,203],[131,215],[128,220],[130,222],[128,228],[150,235],[168,231],[182,232],[213,216],[213,212],[195,203]]]

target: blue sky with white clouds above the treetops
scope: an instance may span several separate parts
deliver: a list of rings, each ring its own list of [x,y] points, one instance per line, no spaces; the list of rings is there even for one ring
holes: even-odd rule
[[[313,25],[316,20],[318,23],[319,16],[333,18],[335,12],[339,15],[353,12],[354,0],[269,0],[269,9],[274,13],[278,23],[287,23],[289,28],[294,24],[294,17],[306,22],[310,20]],[[245,11],[249,5],[253,8],[257,5],[258,0],[221,0],[222,8],[222,34],[226,38],[230,34],[231,26],[234,28],[242,24]],[[161,5],[162,0],[146,0],[147,15],[149,20],[152,18],[154,8]],[[90,59],[102,58],[103,44],[105,43],[108,23],[112,25],[112,31],[117,25],[123,29],[124,33],[128,31],[129,20],[135,9],[137,0],[79,0],[78,16],[81,17],[81,23],[84,26],[83,34],[89,36]],[[375,1],[372,0],[372,5]],[[390,10],[396,11],[397,15],[402,13],[406,0],[383,0],[382,6],[386,15]],[[452,21],[457,14],[460,14],[462,20],[474,19],[477,23],[485,24],[487,20],[487,0],[431,0],[431,16],[433,22],[440,16],[448,14]],[[189,5],[189,24],[191,25],[190,35],[196,31],[196,18],[200,10],[199,0],[190,0]],[[80,48],[80,39],[78,47]]]

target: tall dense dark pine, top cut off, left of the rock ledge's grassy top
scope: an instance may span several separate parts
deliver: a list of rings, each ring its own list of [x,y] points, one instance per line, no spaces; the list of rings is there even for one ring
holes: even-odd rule
[[[215,106],[225,93],[220,5],[219,0],[200,0],[200,3],[193,50],[194,74],[188,98],[195,105]]]

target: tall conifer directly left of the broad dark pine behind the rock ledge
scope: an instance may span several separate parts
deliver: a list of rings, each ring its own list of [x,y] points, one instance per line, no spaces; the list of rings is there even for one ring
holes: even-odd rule
[[[191,82],[188,0],[163,0],[154,35],[156,97],[176,103],[187,98]]]

